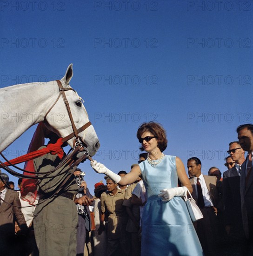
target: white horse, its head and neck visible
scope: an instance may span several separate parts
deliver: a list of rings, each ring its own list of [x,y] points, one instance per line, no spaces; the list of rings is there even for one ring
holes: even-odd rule
[[[60,80],[63,88],[71,88],[69,82],[73,77],[73,65],[67,68]],[[17,84],[0,89],[0,152],[22,135],[28,128],[40,121],[46,121],[47,127],[61,137],[73,132],[72,124],[63,100],[59,97],[59,86],[56,81],[47,83]],[[89,122],[82,99],[73,90],[65,91],[73,122],[77,129]],[[55,103],[55,104],[54,104]],[[53,108],[52,108],[53,106]],[[49,112],[48,112],[49,111]],[[47,113],[48,112],[48,113]],[[47,113],[47,115],[46,115]],[[46,115],[46,118],[45,118]],[[92,125],[78,134],[87,144],[90,156],[93,156],[100,143]],[[73,148],[75,138],[67,143]]]

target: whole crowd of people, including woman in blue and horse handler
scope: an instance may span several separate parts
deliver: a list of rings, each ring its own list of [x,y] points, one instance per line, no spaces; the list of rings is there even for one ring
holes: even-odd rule
[[[240,125],[237,134],[238,140],[228,143],[223,175],[214,166],[203,175],[197,157],[183,163],[178,156],[164,155],[166,131],[156,122],[139,127],[140,150],[146,153],[140,154],[130,172],[116,174],[91,162],[104,175],[93,191],[81,169],[62,165],[53,177],[38,180],[38,201],[31,205],[1,173],[1,252],[11,256],[253,255],[253,124]],[[53,133],[47,138],[49,143],[57,140]],[[48,153],[33,160],[34,170],[48,173],[60,161],[58,155]],[[19,179],[21,191],[23,183]],[[184,201],[187,193],[203,214],[194,223]]]

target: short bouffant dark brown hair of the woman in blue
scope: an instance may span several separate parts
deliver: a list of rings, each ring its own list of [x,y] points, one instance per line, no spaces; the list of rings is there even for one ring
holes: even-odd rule
[[[141,138],[145,132],[150,132],[157,139],[157,146],[163,152],[167,148],[167,138],[166,138],[166,131],[162,127],[160,123],[157,122],[148,122],[143,123],[140,125],[137,131],[137,138],[138,140]],[[140,147],[141,151],[144,151],[144,148]]]

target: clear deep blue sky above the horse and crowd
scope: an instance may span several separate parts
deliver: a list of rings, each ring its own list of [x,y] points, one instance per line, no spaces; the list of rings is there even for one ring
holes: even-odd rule
[[[253,122],[252,1],[0,1],[0,86],[61,78],[85,100],[115,172],[138,160],[136,132],[158,121],[169,155],[225,171],[235,129]],[[35,127],[9,146],[23,155]],[[20,165],[23,167],[23,165]],[[80,164],[88,187],[103,179]],[[17,179],[11,177],[17,183]]]

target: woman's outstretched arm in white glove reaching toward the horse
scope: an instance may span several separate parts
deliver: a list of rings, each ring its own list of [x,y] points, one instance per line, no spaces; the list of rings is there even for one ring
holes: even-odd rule
[[[120,177],[120,175],[115,174],[108,168],[106,168],[103,164],[97,161],[91,162],[91,167],[97,172],[97,173],[103,173],[107,175],[109,178],[111,178],[114,182],[119,183],[120,185],[124,186],[127,184],[132,184],[135,182],[138,177],[141,175],[140,167],[134,166],[130,173],[126,174],[124,177]]]

